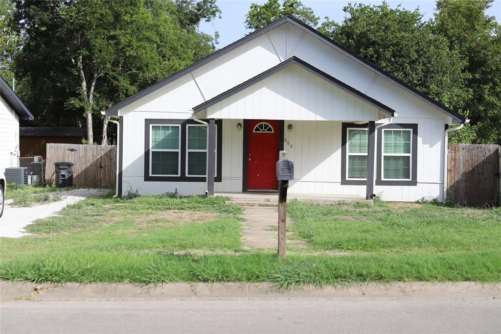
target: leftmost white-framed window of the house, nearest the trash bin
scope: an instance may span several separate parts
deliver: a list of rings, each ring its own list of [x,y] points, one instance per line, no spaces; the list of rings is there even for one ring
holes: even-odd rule
[[[150,126],[150,176],[179,176],[181,126]]]

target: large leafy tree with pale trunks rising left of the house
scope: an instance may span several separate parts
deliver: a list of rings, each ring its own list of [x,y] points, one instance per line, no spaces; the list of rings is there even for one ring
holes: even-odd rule
[[[212,37],[199,33],[198,22],[186,21],[184,12],[194,8],[198,20],[210,20],[218,11],[211,1],[178,7],[167,0],[20,0],[17,8],[14,22],[23,23],[19,30],[27,39],[15,64],[27,80],[26,95],[35,110],[42,103],[44,121],[61,118],[64,110],[66,122],[76,123],[83,113],[89,143],[95,120],[102,120],[106,142],[101,110],[214,50]]]

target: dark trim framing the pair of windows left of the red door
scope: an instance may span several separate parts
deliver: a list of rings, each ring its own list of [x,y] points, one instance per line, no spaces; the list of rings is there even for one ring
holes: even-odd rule
[[[204,120],[207,121],[207,120]],[[214,182],[221,182],[222,173],[222,120],[215,121],[217,125],[217,177]],[[181,124],[181,173],[180,176],[150,176],[150,125],[151,124]],[[193,119],[164,119],[147,118],[144,120],[144,181],[163,181],[163,182],[206,182],[206,177],[187,177],[186,176],[186,125],[200,124]]]

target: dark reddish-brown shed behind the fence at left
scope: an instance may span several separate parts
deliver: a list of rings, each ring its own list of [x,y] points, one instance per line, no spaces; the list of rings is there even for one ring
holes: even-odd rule
[[[21,156],[41,155],[45,160],[47,143],[81,144],[84,135],[85,129],[80,127],[21,127]]]

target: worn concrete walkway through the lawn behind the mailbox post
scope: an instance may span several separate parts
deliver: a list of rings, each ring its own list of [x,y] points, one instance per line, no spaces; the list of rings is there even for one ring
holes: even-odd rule
[[[278,209],[270,207],[244,207],[242,223],[242,241],[246,249],[278,247]],[[289,223],[289,222],[288,222]],[[292,233],[287,233],[288,245],[304,247],[306,243],[293,240]]]

